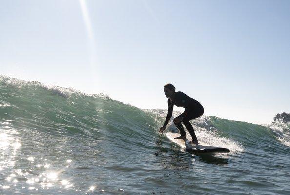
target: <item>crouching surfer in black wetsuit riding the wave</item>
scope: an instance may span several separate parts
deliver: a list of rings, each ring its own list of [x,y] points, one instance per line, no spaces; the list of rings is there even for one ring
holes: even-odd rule
[[[186,132],[181,124],[183,123],[192,137],[192,141],[190,141],[190,143],[198,145],[198,140],[189,121],[204,114],[203,106],[195,99],[187,96],[185,93],[180,91],[175,92],[175,87],[172,84],[166,84],[164,86],[164,93],[168,98],[168,113],[164,125],[159,128],[159,132],[165,131],[165,128],[172,117],[173,106],[176,105],[178,107],[183,107],[185,108],[185,111],[173,120],[174,124],[180,131],[180,136],[175,137],[174,139],[186,139]]]

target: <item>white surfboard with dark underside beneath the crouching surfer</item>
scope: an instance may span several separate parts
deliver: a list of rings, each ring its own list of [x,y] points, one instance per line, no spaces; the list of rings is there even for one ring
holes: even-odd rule
[[[166,133],[166,136],[173,142],[177,143],[181,147],[185,147],[185,151],[191,152],[191,153],[204,153],[204,154],[214,154],[214,153],[228,153],[228,148],[221,148],[217,146],[206,146],[206,145],[195,145],[190,144],[188,139],[182,140],[182,139],[174,139],[174,137],[180,136],[178,133]]]

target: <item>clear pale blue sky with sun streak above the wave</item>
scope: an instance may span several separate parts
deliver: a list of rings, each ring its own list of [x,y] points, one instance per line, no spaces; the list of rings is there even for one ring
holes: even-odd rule
[[[290,112],[289,0],[0,0],[0,74],[142,109],[172,83],[208,116]],[[175,107],[174,110],[183,109]]]

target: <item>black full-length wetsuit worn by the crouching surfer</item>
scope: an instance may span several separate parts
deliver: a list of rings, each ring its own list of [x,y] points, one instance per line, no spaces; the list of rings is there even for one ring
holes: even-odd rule
[[[173,98],[168,98],[168,114],[164,122],[165,126],[168,124],[170,118],[172,117],[174,105],[185,108],[185,111],[178,117],[184,117],[182,123],[186,126],[186,129],[190,133],[192,139],[196,139],[193,127],[190,124],[189,120],[202,116],[204,114],[203,106],[195,99],[192,99],[189,96],[187,96],[185,93],[175,92]],[[174,124],[176,125],[182,136],[186,135],[186,132],[184,131],[181,122],[180,123],[174,122]]]

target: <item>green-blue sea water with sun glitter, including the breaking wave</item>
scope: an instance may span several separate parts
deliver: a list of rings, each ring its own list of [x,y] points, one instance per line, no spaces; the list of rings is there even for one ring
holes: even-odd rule
[[[290,195],[290,124],[202,116],[199,141],[230,153],[194,155],[166,114],[0,76],[0,194]]]

